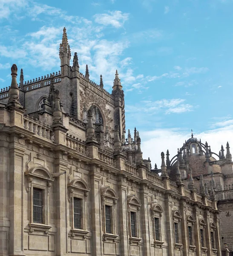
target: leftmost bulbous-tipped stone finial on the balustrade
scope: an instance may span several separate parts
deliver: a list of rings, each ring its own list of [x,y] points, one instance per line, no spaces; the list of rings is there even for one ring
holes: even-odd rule
[[[17,85],[17,80],[16,80],[18,68],[17,68],[16,64],[12,65],[11,71],[12,71],[12,74],[11,74],[12,75],[12,84],[9,89],[10,98],[9,98],[8,104],[14,103],[14,104],[20,105],[20,102],[19,102],[20,91],[19,91],[19,87]]]

